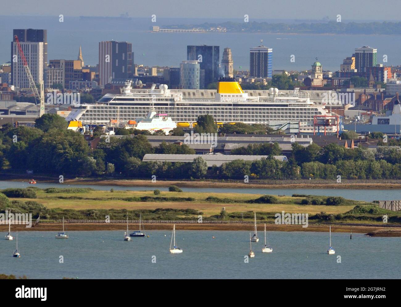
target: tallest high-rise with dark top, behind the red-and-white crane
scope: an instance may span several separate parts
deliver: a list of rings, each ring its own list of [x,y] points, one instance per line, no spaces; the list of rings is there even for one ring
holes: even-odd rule
[[[11,83],[20,88],[30,88],[24,63],[18,53],[14,36],[18,37],[34,82],[45,81],[47,69],[47,30],[14,29],[11,42]]]

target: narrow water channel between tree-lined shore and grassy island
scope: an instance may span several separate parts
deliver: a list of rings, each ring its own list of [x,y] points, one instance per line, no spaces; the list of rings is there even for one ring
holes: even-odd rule
[[[24,188],[31,186],[27,181],[0,181],[0,189],[10,187]],[[118,185],[69,185],[59,183],[36,183],[35,187],[42,189],[48,187],[89,187],[96,190],[123,190],[123,191],[153,191],[159,189],[160,191],[168,191],[167,187],[121,187]],[[181,188],[186,192],[205,192],[205,193],[247,193],[247,194],[271,194],[271,195],[292,195],[292,194],[306,194],[306,195],[324,195],[324,196],[342,196],[347,199],[360,200],[360,201],[374,201],[374,200],[392,200],[399,199],[401,196],[400,189],[385,190],[385,189],[245,189],[245,188]]]

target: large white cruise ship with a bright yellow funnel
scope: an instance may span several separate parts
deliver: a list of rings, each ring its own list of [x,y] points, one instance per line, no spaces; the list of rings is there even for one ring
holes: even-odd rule
[[[270,88],[256,96],[241,89],[233,78],[221,78],[217,91],[168,89],[153,84],[150,89],[132,89],[127,80],[120,94],[106,94],[95,104],[81,104],[71,111],[66,120],[80,120],[82,124],[111,123],[127,126],[130,120],[146,116],[149,110],[168,114],[174,122],[196,122],[198,116],[210,114],[216,122],[266,124],[284,130],[286,125],[297,124],[300,132],[313,132],[314,116],[332,115],[325,106],[310,101],[306,91],[279,91]],[[192,94],[191,94],[192,93]],[[336,132],[336,125],[325,127]]]

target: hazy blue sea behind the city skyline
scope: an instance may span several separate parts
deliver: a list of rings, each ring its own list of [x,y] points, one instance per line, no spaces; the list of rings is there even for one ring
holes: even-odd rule
[[[401,56],[399,36],[390,35],[283,35],[265,33],[150,33],[150,26],[168,24],[201,24],[219,22],[207,19],[135,18],[133,20],[80,20],[65,16],[59,22],[58,16],[2,16],[0,18],[0,41],[12,41],[12,29],[42,28],[48,30],[49,59],[77,59],[79,45],[82,45],[85,64],[99,62],[100,41],[128,41],[132,43],[134,63],[179,67],[186,60],[187,45],[218,45],[220,57],[223,49],[230,47],[234,68],[249,69],[249,48],[263,44],[273,48],[273,69],[310,69],[318,57],[326,70],[338,70],[345,57],[361,46],[377,48],[377,63],[398,65]],[[241,20],[234,20],[241,21]],[[289,21],[291,22],[291,21]],[[295,62],[290,56],[295,55]],[[10,61],[10,43],[0,45],[0,62]]]

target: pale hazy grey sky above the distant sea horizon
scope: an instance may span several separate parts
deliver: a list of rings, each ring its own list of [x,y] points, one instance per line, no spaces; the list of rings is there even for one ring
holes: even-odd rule
[[[1,0],[5,5],[5,0]],[[400,0],[13,0],[0,15],[399,20]],[[229,4],[229,5],[228,5]]]

